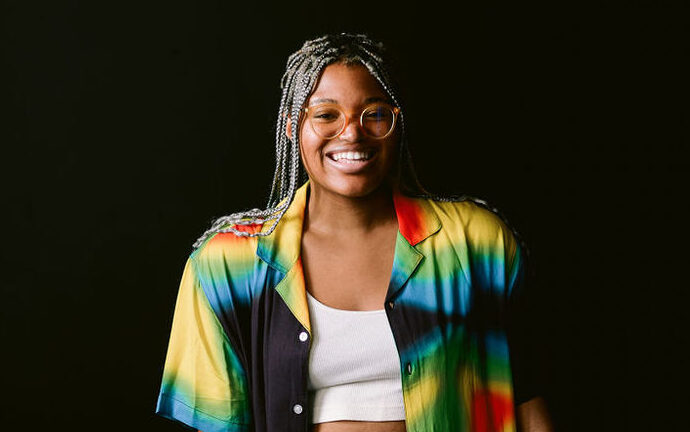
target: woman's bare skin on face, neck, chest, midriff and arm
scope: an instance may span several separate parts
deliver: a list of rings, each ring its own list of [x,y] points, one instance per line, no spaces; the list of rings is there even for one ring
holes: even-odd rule
[[[353,115],[376,98],[387,99],[366,68],[336,63],[324,69],[307,105],[329,99]],[[333,139],[321,138],[303,119],[299,127],[302,162],[311,181],[301,250],[306,288],[333,308],[383,309],[398,232],[390,176],[399,135],[396,131],[382,140],[371,139],[357,121]],[[291,128],[289,124],[288,134]],[[336,148],[366,148],[376,154],[366,169],[343,173],[328,160]],[[519,405],[516,417],[520,431],[553,431],[542,398]],[[405,431],[404,420],[334,421],[312,428],[312,432]]]

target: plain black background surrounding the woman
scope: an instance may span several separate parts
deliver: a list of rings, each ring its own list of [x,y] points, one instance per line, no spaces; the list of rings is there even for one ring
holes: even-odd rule
[[[680,424],[687,16],[5,2],[2,429],[181,430],[153,411],[184,261],[213,218],[265,204],[287,56],[345,30],[396,59],[422,181],[527,241],[559,429]]]

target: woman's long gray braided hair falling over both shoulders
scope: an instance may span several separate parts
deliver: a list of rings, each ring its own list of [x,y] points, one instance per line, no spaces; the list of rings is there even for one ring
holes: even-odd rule
[[[292,203],[297,187],[307,179],[307,173],[302,166],[299,152],[299,127],[292,127],[292,139],[290,139],[287,135],[289,118],[299,119],[300,112],[313,91],[321,71],[327,65],[338,62],[365,66],[376,78],[393,104],[401,109],[396,181],[402,193],[412,197],[431,198],[438,201],[472,200],[498,214],[506,221],[498,213],[498,210],[489,206],[485,201],[467,196],[439,197],[429,194],[424,189],[412,165],[405,134],[404,110],[394,83],[386,70],[387,62],[383,44],[375,42],[366,35],[341,33],[308,40],[302,48],[288,57],[286,70],[280,81],[282,95],[276,121],[276,166],[267,207],[265,209],[245,210],[216,219],[211,227],[194,243],[194,248],[201,246],[215,233],[232,232],[238,236],[255,237],[267,236],[273,232]],[[295,121],[292,124],[297,125],[298,123]],[[280,204],[281,202],[283,203]],[[235,228],[237,225],[262,224],[268,221],[272,221],[272,224],[265,232],[250,233]]]

